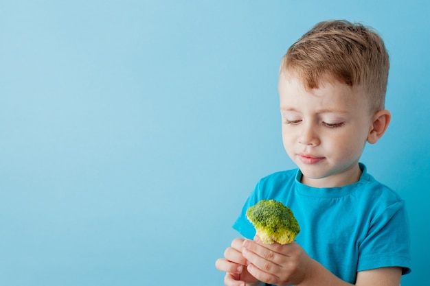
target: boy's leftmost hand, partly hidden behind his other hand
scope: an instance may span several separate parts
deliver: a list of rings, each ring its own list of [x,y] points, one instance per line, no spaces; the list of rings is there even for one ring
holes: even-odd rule
[[[224,257],[216,261],[216,268],[226,272],[224,283],[226,286],[245,286],[245,283],[258,283],[258,280],[247,271],[247,259],[242,256],[245,239],[236,238],[231,247],[224,252]]]

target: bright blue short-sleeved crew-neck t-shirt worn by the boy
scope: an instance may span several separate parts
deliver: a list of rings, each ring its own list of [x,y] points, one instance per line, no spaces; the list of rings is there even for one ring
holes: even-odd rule
[[[367,174],[365,165],[360,167],[360,180],[345,187],[309,187],[300,182],[298,169],[262,178],[233,227],[253,239],[256,230],[247,209],[260,200],[278,200],[299,222],[295,241],[343,281],[355,283],[357,272],[379,267],[403,267],[407,274],[411,259],[405,202]]]

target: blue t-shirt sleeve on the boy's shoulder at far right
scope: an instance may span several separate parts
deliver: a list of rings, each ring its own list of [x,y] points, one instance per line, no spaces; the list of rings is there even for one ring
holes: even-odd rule
[[[357,271],[402,267],[411,272],[409,221],[403,200],[387,206],[370,224],[360,248]]]

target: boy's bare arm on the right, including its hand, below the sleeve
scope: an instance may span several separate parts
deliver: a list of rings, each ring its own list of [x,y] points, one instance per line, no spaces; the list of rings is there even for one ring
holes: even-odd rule
[[[349,286],[317,261],[308,257],[297,243],[280,245],[245,240],[242,254],[247,259],[247,272],[259,281],[273,285]],[[357,286],[398,286],[401,268],[385,267],[357,274]]]

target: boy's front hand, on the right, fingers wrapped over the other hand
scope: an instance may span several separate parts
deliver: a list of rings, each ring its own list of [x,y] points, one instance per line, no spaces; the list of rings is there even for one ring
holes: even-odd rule
[[[274,285],[302,283],[313,261],[297,243],[264,244],[258,236],[243,241],[242,255],[247,271],[259,281]]]

